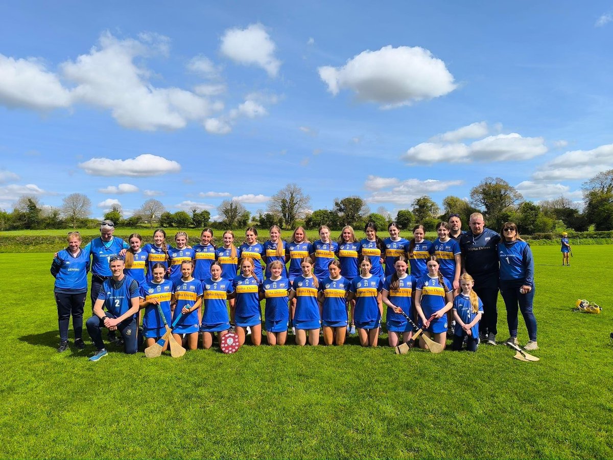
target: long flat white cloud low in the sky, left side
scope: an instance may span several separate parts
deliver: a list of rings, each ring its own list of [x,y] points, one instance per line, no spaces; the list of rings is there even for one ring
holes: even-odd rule
[[[79,163],[78,167],[87,174],[102,176],[150,177],[181,171],[181,165],[176,161],[150,153],[128,159],[92,158]]]

